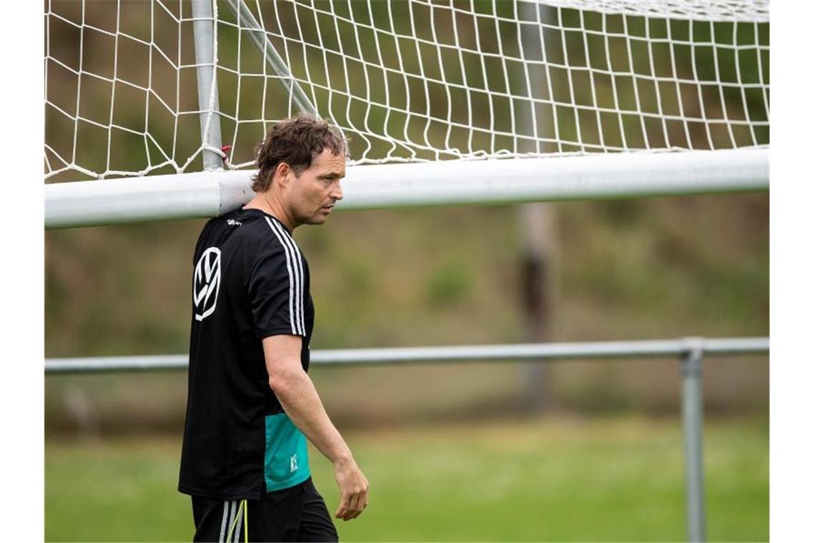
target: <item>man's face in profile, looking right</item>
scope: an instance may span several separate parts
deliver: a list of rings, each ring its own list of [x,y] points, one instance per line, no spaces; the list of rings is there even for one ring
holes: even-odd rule
[[[321,225],[337,200],[342,199],[340,180],[346,177],[346,157],[325,148],[298,177],[291,172],[289,202],[297,224]]]

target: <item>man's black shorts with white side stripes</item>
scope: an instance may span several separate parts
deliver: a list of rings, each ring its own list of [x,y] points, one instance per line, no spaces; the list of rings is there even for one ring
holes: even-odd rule
[[[192,541],[245,541],[245,536],[249,541],[339,541],[311,477],[291,488],[267,493],[260,500],[193,496],[192,517],[196,523]]]

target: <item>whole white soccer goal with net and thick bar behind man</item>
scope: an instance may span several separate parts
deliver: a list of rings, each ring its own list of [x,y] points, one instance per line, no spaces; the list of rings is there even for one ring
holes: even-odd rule
[[[763,0],[46,3],[46,228],[211,217],[310,112],[339,208],[769,188]]]

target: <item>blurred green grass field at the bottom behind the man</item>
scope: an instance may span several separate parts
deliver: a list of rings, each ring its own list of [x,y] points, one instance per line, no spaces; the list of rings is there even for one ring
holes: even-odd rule
[[[371,505],[343,541],[683,541],[678,418],[553,418],[347,435]],[[709,541],[768,541],[769,423],[705,425]],[[175,437],[46,440],[46,541],[189,541]],[[337,505],[330,464],[315,482]],[[251,514],[251,512],[250,512]]]

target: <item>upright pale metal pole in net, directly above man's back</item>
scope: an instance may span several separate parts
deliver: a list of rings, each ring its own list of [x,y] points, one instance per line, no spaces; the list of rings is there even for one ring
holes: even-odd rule
[[[218,85],[215,81],[215,18],[212,0],[192,0],[192,33],[196,46],[196,77],[198,82],[198,109],[200,110],[201,142],[209,147],[221,148],[221,117],[218,116]],[[221,155],[202,151],[205,170],[223,168]]]

